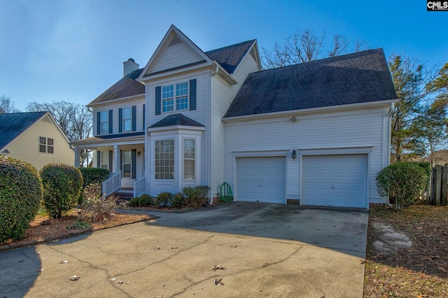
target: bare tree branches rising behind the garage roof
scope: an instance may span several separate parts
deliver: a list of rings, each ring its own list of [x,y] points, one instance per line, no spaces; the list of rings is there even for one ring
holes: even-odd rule
[[[349,41],[342,34],[332,36],[330,47],[325,47],[325,31],[320,34],[314,29],[297,29],[283,44],[274,43],[272,49],[262,48],[262,64],[265,69],[310,62],[325,57],[344,54]],[[366,41],[356,41],[354,51],[368,48]],[[325,50],[326,49],[326,50]]]

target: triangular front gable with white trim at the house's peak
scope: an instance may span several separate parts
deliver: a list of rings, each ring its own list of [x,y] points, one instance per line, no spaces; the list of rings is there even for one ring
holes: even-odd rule
[[[148,76],[158,73],[184,69],[207,62],[212,63],[210,57],[172,25],[141,72],[139,79],[144,80]]]

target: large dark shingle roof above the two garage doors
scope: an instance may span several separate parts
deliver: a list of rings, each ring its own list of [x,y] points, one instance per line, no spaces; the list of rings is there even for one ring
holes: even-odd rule
[[[251,73],[224,117],[396,98],[380,48]]]

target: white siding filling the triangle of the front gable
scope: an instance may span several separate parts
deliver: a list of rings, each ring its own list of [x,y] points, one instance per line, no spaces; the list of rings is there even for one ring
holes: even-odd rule
[[[166,69],[173,69],[177,66],[183,66],[200,62],[204,60],[200,55],[195,52],[186,43],[177,43],[175,45],[169,45],[162,50],[160,58],[151,69],[151,73],[158,71],[164,71]]]

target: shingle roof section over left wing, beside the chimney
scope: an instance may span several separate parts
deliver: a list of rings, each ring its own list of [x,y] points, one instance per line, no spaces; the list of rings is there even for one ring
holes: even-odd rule
[[[132,97],[134,95],[144,94],[145,85],[137,82],[136,78],[139,78],[143,69],[137,69],[132,73],[127,74],[117,83],[113,84],[108,90],[104,91],[99,97],[94,99],[90,104],[97,104],[112,99],[120,99],[123,97]]]

